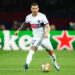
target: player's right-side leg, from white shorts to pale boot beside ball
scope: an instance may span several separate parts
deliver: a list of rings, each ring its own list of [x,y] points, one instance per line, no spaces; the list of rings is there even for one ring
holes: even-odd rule
[[[47,50],[47,52],[49,53],[50,58],[51,58],[51,60],[52,60],[52,63],[53,63],[53,65],[54,65],[54,67],[55,67],[57,70],[60,70],[60,67],[59,67],[59,65],[58,65],[57,62],[56,62],[56,56],[55,56],[55,53],[53,52],[53,47],[52,47],[52,45],[51,45],[49,39],[48,39],[48,38],[44,38],[43,41],[41,42],[41,45],[42,45],[43,47],[45,47],[46,50]]]

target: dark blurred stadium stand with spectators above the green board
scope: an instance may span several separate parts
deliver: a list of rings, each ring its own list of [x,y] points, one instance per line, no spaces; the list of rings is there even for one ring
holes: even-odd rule
[[[20,20],[18,21],[14,20],[17,16],[15,15],[14,17],[11,14],[13,12],[30,12],[29,9],[33,2],[38,3],[40,11],[46,13],[49,20],[67,18],[68,21],[62,21],[64,24],[59,22],[59,20],[54,20],[52,24],[50,24],[51,30],[75,30],[75,20],[72,22],[72,20],[68,19],[75,18],[75,0],[0,0],[0,30],[17,30],[22,24],[20,21],[22,21],[23,16],[25,15],[23,14],[21,16],[14,13],[14,15],[20,16]],[[14,18],[14,21],[9,23],[12,21],[12,17]],[[4,24],[5,22],[8,23]],[[23,30],[31,30],[31,28],[27,26],[23,28]]]

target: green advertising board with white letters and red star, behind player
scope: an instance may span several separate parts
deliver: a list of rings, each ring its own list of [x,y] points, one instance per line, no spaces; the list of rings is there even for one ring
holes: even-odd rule
[[[29,50],[33,38],[32,31],[20,31],[15,36],[15,31],[0,31],[0,50]],[[54,49],[75,49],[75,31],[50,31],[50,41]],[[39,46],[39,50],[43,50]]]

